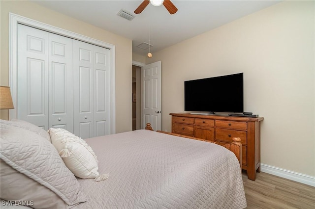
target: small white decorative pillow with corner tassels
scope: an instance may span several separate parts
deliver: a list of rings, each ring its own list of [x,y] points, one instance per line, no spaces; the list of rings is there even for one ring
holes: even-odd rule
[[[76,177],[94,178],[96,182],[108,179],[108,174],[99,175],[97,157],[83,139],[64,129],[50,128],[48,132],[64,164]]]

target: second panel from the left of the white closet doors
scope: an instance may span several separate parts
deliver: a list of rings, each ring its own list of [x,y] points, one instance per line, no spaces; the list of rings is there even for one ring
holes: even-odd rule
[[[49,33],[49,127],[73,132],[72,39]]]

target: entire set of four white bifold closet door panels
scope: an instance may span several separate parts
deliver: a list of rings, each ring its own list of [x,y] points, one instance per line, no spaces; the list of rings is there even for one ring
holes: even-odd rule
[[[18,119],[81,138],[110,134],[110,50],[18,25]]]

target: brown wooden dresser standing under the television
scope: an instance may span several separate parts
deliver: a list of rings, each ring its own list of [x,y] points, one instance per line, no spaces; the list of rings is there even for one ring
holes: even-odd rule
[[[250,180],[260,172],[260,122],[263,117],[232,117],[219,115],[198,115],[190,113],[170,113],[172,133],[178,133],[205,141],[215,141],[219,145],[232,142],[240,137],[242,147],[242,168]]]

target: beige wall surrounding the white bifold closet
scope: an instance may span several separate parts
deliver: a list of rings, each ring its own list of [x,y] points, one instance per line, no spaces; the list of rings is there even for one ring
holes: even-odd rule
[[[18,14],[45,24],[79,33],[116,47],[116,132],[132,130],[132,41],[109,31],[67,17],[28,1],[0,0],[1,63],[0,84],[8,85],[8,13]],[[122,91],[122,89],[124,89]],[[118,91],[117,91],[118,92]],[[7,119],[7,110],[1,110]]]

